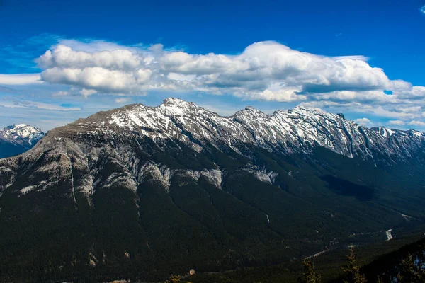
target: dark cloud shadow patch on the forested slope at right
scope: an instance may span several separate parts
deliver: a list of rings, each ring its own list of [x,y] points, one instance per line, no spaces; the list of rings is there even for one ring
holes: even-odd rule
[[[376,189],[365,185],[358,185],[348,180],[344,180],[333,175],[324,175],[320,177],[328,183],[329,189],[339,195],[356,197],[361,201],[375,200]]]

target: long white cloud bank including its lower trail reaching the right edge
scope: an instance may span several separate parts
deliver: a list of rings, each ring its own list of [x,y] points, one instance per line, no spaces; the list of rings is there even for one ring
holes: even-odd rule
[[[278,42],[256,42],[239,54],[191,54],[162,45],[62,40],[38,59],[41,79],[97,93],[149,91],[232,94],[243,100],[302,103],[390,117],[424,118],[424,86],[390,80],[368,57],[326,57]]]

